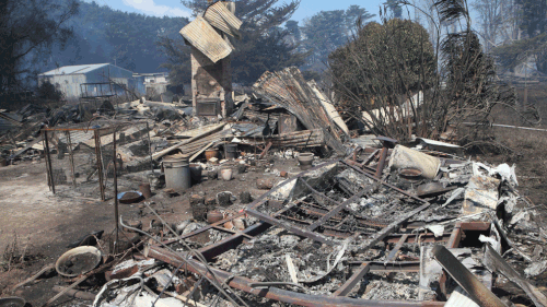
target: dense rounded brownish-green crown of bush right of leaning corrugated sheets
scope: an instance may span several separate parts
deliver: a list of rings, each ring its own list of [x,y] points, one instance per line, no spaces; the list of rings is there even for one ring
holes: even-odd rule
[[[335,91],[373,101],[424,90],[423,81],[435,72],[435,55],[419,23],[392,19],[364,25],[352,42],[330,54],[329,66]]]

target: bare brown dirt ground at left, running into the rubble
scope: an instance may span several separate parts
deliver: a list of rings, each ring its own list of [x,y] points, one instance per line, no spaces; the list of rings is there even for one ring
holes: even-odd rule
[[[259,167],[248,167],[246,173],[235,174],[230,181],[203,180],[176,197],[154,191],[154,196],[146,201],[151,202],[151,206],[168,223],[191,219],[188,199],[193,193],[214,198],[218,192],[231,191],[237,199],[232,204],[233,210],[237,210],[242,205],[238,199],[242,191],[249,191],[254,198],[259,197],[266,190],[257,189],[256,180],[270,178],[274,182],[281,181],[283,178],[278,175],[280,170],[298,172],[296,162],[279,160],[275,165],[266,163]],[[127,190],[124,187],[137,188],[139,184],[124,181],[124,177],[120,181],[125,182],[120,185],[120,192]],[[70,187],[62,188],[66,190]],[[119,214],[124,221],[140,220],[146,229],[154,216],[142,206],[142,203],[119,204]],[[5,258],[3,256],[14,241],[20,255],[25,253],[23,263],[2,262],[2,267],[9,267],[9,271],[0,270],[0,296],[8,295],[13,285],[30,278],[33,272],[54,263],[69,249],[67,245],[70,243],[92,232],[105,231],[106,236],[115,229],[113,199],[101,202],[89,198],[69,198],[66,193],[54,194],[47,185],[44,162],[24,162],[0,168],[0,261]],[[33,306],[39,306],[55,295],[51,292],[55,284],[66,283],[55,276],[31,287],[23,287],[16,294],[25,297]],[[78,306],[72,305],[69,298],[59,299],[57,304]]]

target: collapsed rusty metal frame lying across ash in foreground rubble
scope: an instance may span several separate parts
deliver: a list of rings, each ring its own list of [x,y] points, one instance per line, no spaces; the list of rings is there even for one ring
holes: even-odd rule
[[[416,244],[416,243],[438,243],[438,244],[444,244],[445,247],[447,248],[456,248],[458,247],[462,237],[465,235],[465,232],[485,232],[490,229],[490,223],[487,222],[470,222],[470,223],[463,223],[463,222],[457,222],[455,224],[454,229],[451,233],[444,233],[441,237],[435,237],[432,234],[426,234],[422,236],[420,239],[417,239],[416,237],[411,237],[408,234],[394,234],[394,232],[404,223],[406,222],[409,217],[415,215],[416,213],[423,211],[424,209],[429,208],[430,203],[427,202],[426,200],[422,200],[418,197],[411,196],[407,193],[404,190],[400,190],[385,181],[382,181],[381,179],[375,178],[371,174],[368,174],[366,172],[352,166],[351,164],[347,163],[344,160],[337,160],[334,162],[327,162],[324,164],[321,164],[318,166],[315,166],[306,172],[302,172],[295,177],[286,180],[284,182],[280,184],[279,186],[275,187],[271,189],[269,192],[263,194],[258,199],[256,199],[253,203],[251,203],[247,209],[244,212],[240,212],[231,217],[224,219],[220,222],[210,224],[206,227],[199,228],[197,231],[194,231],[191,233],[188,233],[186,235],[181,236],[177,239],[170,239],[164,241],[164,244],[171,244],[175,243],[178,239],[187,239],[193,236],[196,236],[198,234],[201,234],[208,229],[217,229],[221,232],[229,232],[232,233],[231,236],[217,241],[212,245],[202,247],[198,249],[198,251],[207,259],[207,261],[213,260],[216,257],[220,256],[221,253],[230,250],[237,248],[241,244],[247,243],[251,239],[254,239],[265,233],[268,228],[270,227],[281,227],[287,229],[289,233],[292,233],[296,236],[301,237],[307,237],[312,238],[313,240],[327,244],[327,245],[333,245],[333,241],[328,240],[325,238],[325,236],[330,236],[330,237],[344,237],[340,236],[340,234],[337,234],[336,232],[325,232],[324,235],[319,235],[317,233],[314,233],[313,231],[316,229],[318,226],[323,225],[326,221],[331,219],[337,212],[341,211],[342,209],[346,208],[346,205],[351,201],[357,198],[360,198],[364,196],[370,189],[363,189],[363,191],[358,192],[357,194],[352,196],[349,200],[338,203],[334,210],[329,211],[326,214],[323,214],[315,223],[312,225],[309,225],[306,228],[303,227],[298,227],[290,225],[286,222],[282,222],[278,220],[277,217],[282,214],[283,212],[294,208],[298,205],[296,202],[292,203],[289,206],[282,208],[281,210],[277,211],[276,213],[271,215],[267,215],[264,213],[260,213],[256,211],[256,209],[264,204],[266,201],[268,201],[268,197],[271,196],[274,192],[278,191],[280,188],[283,186],[288,185],[289,182],[292,182],[294,180],[301,180],[301,178],[314,170],[321,169],[325,166],[331,165],[331,164],[344,164],[354,170],[357,170],[360,174],[365,175],[366,177],[375,180],[377,184],[383,185],[392,190],[395,190],[399,193],[403,193],[406,197],[412,198],[416,201],[419,201],[422,203],[419,208],[411,210],[410,212],[407,212],[404,214],[403,217],[397,219],[395,222],[385,225],[382,231],[377,232],[375,235],[373,235],[373,239],[369,241],[366,245],[368,248],[372,247],[375,243],[379,243],[381,240],[385,243],[391,243],[391,244],[396,244],[394,248],[389,251],[387,255],[387,258],[385,261],[351,261],[349,264],[356,265],[356,268],[352,272],[352,275],[346,280],[346,282],[337,290],[335,291],[331,295],[309,295],[309,294],[302,294],[298,292],[292,292],[292,291],[287,291],[282,290],[276,286],[270,286],[267,288],[258,288],[254,287],[254,284],[256,285],[257,282],[253,281],[251,279],[247,279],[245,276],[238,276],[234,275],[230,272],[212,268],[212,267],[207,267],[200,261],[194,260],[194,259],[188,259],[187,255],[182,253],[173,253],[166,249],[163,249],[159,246],[151,246],[149,251],[148,251],[148,257],[155,258],[158,260],[164,261],[171,265],[179,267],[182,271],[185,272],[190,272],[190,273],[196,273],[200,275],[207,275],[208,278],[216,278],[219,282],[225,283],[226,285],[237,288],[244,292],[247,292],[249,294],[254,294],[260,297],[269,298],[269,299],[275,299],[275,300],[280,300],[283,303],[289,303],[289,304],[296,304],[301,306],[444,306],[445,302],[433,302],[433,300],[371,300],[371,299],[360,299],[360,298],[350,298],[347,297],[347,295],[354,288],[356,285],[359,284],[359,282],[362,280],[362,278],[368,273],[368,272],[407,272],[407,273],[418,273],[421,270],[420,261],[394,261],[395,257],[397,255],[397,251],[403,247],[403,244]],[[309,188],[312,189],[312,193],[315,194],[322,194],[324,198],[327,198],[324,193],[321,193],[313,189],[312,187],[309,186]],[[334,200],[331,200],[334,201]],[[336,202],[336,201],[335,201]],[[232,221],[234,219],[241,217],[244,214],[249,214],[258,220],[260,222],[247,227],[246,229],[238,232],[238,233],[233,233],[231,231],[228,231],[222,226],[222,224]],[[183,265],[184,262],[191,262],[191,265]],[[440,283],[440,290],[442,293],[446,294],[446,283],[447,281],[447,275],[443,273],[441,278],[439,279]]]

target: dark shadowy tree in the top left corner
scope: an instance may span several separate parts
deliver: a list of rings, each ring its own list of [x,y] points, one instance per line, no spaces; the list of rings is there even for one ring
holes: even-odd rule
[[[22,90],[51,46],[67,43],[72,35],[67,22],[78,8],[75,0],[0,1],[0,96]]]

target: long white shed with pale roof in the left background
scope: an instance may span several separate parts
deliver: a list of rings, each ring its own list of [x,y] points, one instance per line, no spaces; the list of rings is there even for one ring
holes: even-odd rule
[[[124,95],[136,90],[133,73],[110,63],[65,66],[38,74],[38,85],[49,82],[66,99]],[[139,93],[142,94],[142,93]]]

